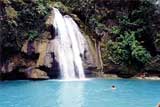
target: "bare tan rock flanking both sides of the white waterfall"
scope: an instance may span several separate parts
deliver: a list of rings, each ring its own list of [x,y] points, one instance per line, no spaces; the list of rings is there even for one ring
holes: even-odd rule
[[[77,18],[78,19],[78,18]],[[47,31],[40,34],[40,38],[35,40],[25,40],[20,52],[12,55],[1,66],[2,80],[15,79],[49,79],[59,78],[60,68],[56,58],[57,46],[55,37],[55,29],[52,25],[53,16],[49,16],[46,25]],[[96,53],[92,41],[86,36],[89,48],[83,59],[83,66],[87,75],[91,74],[91,70],[96,69]],[[93,57],[93,59],[92,59]]]

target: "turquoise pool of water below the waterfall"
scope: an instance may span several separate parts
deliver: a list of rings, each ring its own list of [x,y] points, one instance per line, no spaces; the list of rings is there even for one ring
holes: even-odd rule
[[[0,107],[155,107],[158,102],[160,81],[0,82]]]

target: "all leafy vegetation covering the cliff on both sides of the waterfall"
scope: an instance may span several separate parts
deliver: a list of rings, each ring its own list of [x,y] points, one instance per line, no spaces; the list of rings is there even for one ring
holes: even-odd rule
[[[1,0],[0,5],[0,57],[39,38],[51,6],[84,22],[104,64],[140,71],[160,53],[160,11],[148,0]]]

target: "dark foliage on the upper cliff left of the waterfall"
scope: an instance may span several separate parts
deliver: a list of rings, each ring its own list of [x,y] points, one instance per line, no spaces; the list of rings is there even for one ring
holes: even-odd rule
[[[24,39],[34,39],[44,31],[50,0],[2,0],[2,46],[20,48]],[[7,17],[6,17],[7,16]],[[36,31],[36,32],[33,32]],[[28,36],[26,36],[28,34]]]

